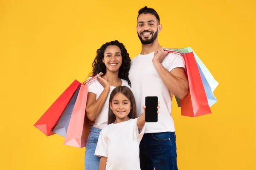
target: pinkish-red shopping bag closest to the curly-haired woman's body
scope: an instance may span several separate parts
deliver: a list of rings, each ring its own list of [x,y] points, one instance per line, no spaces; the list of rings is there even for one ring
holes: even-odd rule
[[[64,144],[74,147],[85,147],[87,138],[90,133],[90,127],[88,125],[89,119],[86,116],[86,103],[89,83],[93,79],[87,80],[86,84],[82,83],[79,94],[76,99],[73,112],[71,114],[70,122],[67,128],[67,134]]]

